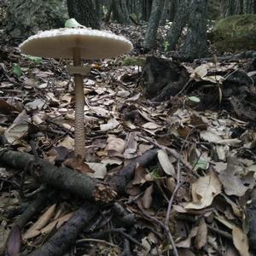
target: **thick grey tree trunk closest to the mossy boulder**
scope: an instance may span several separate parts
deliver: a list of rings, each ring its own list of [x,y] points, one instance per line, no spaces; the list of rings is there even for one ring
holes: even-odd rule
[[[207,55],[207,0],[192,0],[189,9],[189,30],[182,54],[194,60]]]

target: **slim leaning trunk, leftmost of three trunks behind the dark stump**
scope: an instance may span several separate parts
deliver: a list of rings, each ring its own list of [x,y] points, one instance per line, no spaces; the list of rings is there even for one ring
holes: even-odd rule
[[[161,12],[164,7],[164,2],[164,0],[154,0],[152,3],[151,15],[149,17],[148,28],[143,42],[143,46],[145,48],[154,48],[157,29],[160,22]]]

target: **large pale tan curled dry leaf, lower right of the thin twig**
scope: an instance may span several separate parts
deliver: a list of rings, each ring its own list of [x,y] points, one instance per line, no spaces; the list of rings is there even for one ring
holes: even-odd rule
[[[192,199],[185,209],[203,209],[212,204],[213,198],[221,193],[222,185],[215,172],[198,178],[192,184]]]

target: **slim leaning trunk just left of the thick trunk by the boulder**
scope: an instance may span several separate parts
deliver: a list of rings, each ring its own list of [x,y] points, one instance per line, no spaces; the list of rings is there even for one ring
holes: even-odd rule
[[[189,16],[190,0],[181,0],[177,7],[177,13],[172,22],[172,26],[167,32],[166,41],[168,42],[168,49],[173,50],[176,48],[178,38],[186,25]]]

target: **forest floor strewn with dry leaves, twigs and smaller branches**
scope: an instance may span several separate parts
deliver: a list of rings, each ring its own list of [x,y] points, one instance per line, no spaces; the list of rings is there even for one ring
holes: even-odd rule
[[[131,57],[146,57],[141,28],[109,28],[131,39]],[[158,41],[162,49],[165,32]],[[222,102],[224,81],[241,70],[252,78],[253,60],[182,63],[189,86],[165,102],[144,96],[143,67],[127,65],[125,55],[90,61],[84,78],[84,163],[73,156],[73,78],[67,61],[20,55],[5,35],[1,38],[0,252],[55,255],[51,250],[64,241],[66,255],[172,255],[172,249],[174,255],[249,255],[246,209],[255,185],[255,126],[246,113],[240,119]],[[254,95],[249,80],[243,85]],[[217,92],[218,108],[199,110],[209,87]],[[18,155],[17,163],[24,156],[25,167],[9,165],[7,154]],[[117,188],[114,199],[85,200],[81,207],[84,199],[68,187],[34,178],[31,161],[44,168],[38,158]],[[113,184],[119,173],[122,184]],[[90,216],[71,223],[81,209]],[[55,236],[65,225],[67,237]],[[38,252],[43,244],[48,254]]]

